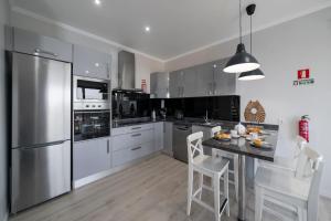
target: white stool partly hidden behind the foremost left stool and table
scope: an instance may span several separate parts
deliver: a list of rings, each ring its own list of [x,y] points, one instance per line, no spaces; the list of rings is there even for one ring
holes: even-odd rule
[[[216,127],[213,127],[212,128],[212,134],[211,134],[211,137],[214,137],[216,133],[221,131],[222,130],[222,127],[221,126],[216,126]],[[220,149],[213,149],[212,150],[212,156],[213,157],[221,157],[221,158],[226,158],[226,159],[229,159],[229,160],[233,160],[233,170],[228,170],[229,173],[233,175],[233,178],[234,178],[234,181],[229,181],[229,183],[233,183],[235,186],[235,193],[236,193],[236,200],[238,199],[238,190],[239,190],[239,187],[238,187],[238,180],[239,180],[239,168],[238,168],[238,155],[236,154],[232,154],[232,152],[227,152],[227,151],[222,151]]]

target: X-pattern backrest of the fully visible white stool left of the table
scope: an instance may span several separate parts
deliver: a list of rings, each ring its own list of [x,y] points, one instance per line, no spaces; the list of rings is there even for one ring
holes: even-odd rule
[[[197,131],[188,136],[186,143],[189,165],[193,162],[193,158],[196,156],[196,154],[203,155],[202,138],[202,131]]]

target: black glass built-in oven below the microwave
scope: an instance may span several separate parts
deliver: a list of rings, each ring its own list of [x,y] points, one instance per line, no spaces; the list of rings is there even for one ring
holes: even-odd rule
[[[110,136],[110,110],[74,110],[74,140]]]

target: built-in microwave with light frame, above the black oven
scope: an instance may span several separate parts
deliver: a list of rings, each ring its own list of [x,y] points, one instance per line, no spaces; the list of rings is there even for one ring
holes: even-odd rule
[[[110,81],[74,76],[74,109],[110,109]]]

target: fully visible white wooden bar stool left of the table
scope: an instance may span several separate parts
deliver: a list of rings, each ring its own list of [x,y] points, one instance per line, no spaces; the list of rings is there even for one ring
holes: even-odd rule
[[[228,206],[228,160],[214,159],[211,156],[203,154],[202,147],[203,133],[194,133],[186,138],[188,155],[189,155],[189,182],[188,182],[188,210],[191,213],[192,201],[199,203],[205,209],[214,212],[216,221],[226,209],[226,214],[229,215]],[[199,175],[199,187],[193,192],[193,173]],[[213,180],[213,188],[203,185],[203,176],[211,177]],[[224,179],[224,192],[220,192],[220,179]],[[201,200],[202,190],[206,189],[214,192],[214,208]]]

